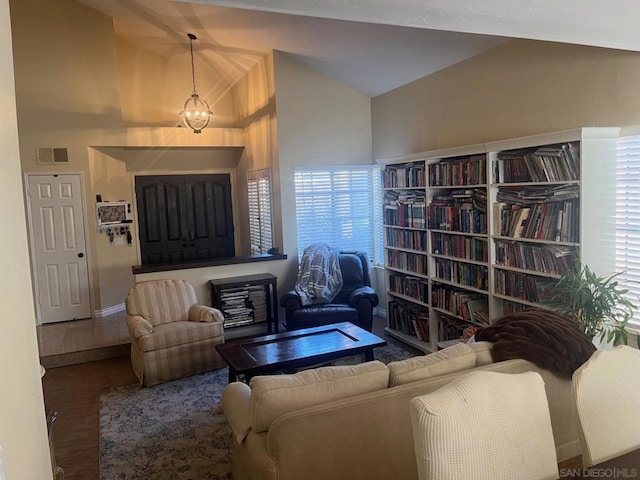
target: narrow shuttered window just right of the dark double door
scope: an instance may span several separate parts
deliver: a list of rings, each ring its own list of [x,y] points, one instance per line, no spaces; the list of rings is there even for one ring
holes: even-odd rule
[[[267,253],[273,247],[271,170],[264,168],[249,172],[247,174],[247,191],[251,253]]]

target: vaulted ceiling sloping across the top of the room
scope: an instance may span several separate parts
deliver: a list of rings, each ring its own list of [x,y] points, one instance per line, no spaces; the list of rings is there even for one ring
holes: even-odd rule
[[[372,97],[513,38],[640,50],[635,0],[78,1],[166,57],[196,34],[199,61],[229,83],[275,49]]]

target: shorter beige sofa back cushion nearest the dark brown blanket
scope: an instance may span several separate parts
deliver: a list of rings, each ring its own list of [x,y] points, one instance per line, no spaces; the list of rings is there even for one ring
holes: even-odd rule
[[[460,343],[422,357],[389,363],[389,386],[404,385],[475,366],[476,352],[469,345]]]

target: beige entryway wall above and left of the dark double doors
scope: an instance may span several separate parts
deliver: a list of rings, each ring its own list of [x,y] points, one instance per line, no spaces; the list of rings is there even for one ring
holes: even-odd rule
[[[215,127],[233,123],[229,92],[219,92],[213,127],[200,135],[154,127],[178,121],[191,93],[188,57],[180,65],[184,55],[163,61],[142,49],[127,51],[131,45],[116,40],[109,17],[73,0],[12,0],[11,7],[22,170],[83,175],[92,307],[98,314],[110,313],[133,285],[131,266],[139,263],[139,255],[136,246],[117,247],[97,230],[96,194],[133,204],[133,173],[232,172],[244,132]],[[184,88],[177,85],[176,65],[184,67]],[[126,67],[131,71],[123,71]],[[211,90],[214,84],[202,77],[202,87]],[[165,87],[168,91],[154,104]],[[124,128],[123,115],[127,124],[146,128]],[[66,147],[70,163],[39,165],[37,147]]]

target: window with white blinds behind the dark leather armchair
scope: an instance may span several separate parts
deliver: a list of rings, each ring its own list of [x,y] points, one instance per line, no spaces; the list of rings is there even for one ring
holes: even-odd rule
[[[366,252],[382,265],[382,190],[377,165],[296,168],[298,257],[312,243]]]

